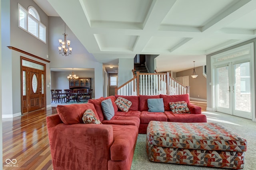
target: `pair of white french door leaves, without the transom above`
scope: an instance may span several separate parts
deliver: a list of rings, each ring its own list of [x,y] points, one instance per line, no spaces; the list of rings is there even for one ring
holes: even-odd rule
[[[252,119],[250,62],[216,67],[216,110]]]

